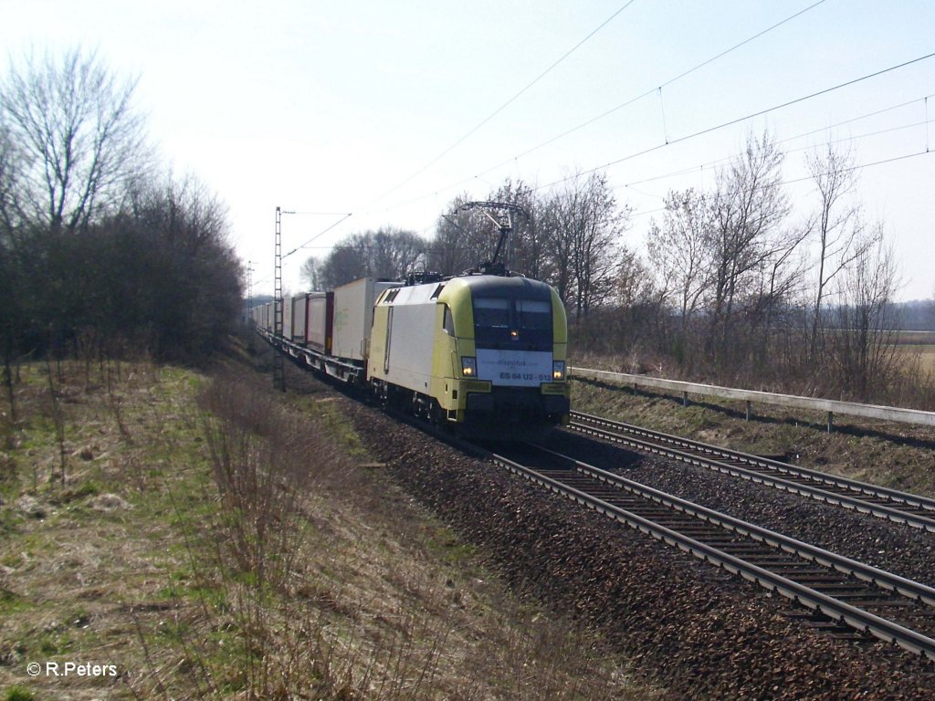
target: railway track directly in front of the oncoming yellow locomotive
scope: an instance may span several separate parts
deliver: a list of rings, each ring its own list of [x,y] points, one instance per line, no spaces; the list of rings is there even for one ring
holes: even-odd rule
[[[846,629],[935,659],[935,589],[700,507],[573,457],[525,446],[492,460],[583,506],[753,581]],[[843,628],[841,626],[844,626]]]

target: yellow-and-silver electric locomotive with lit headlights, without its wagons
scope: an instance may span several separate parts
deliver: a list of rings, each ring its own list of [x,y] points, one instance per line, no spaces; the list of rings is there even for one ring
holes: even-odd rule
[[[500,272],[381,293],[367,380],[385,403],[475,437],[568,423],[565,308],[546,283]]]

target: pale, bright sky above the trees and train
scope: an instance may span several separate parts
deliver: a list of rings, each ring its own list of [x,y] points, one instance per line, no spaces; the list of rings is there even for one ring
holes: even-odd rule
[[[858,194],[885,222],[900,297],[929,298],[935,58],[692,136],[935,52],[935,3],[826,0],[673,81],[813,3],[635,0],[457,146],[626,0],[0,0],[0,61],[80,44],[138,75],[152,138],[227,202],[239,254],[266,279],[257,293],[272,290],[277,206],[352,212],[314,246],[383,224],[430,236],[458,193],[482,199],[506,177],[547,186],[619,161],[607,174],[635,209],[626,244],[640,248],[670,188],[710,185],[716,164],[767,128],[788,150],[790,181],[828,139],[850,140],[859,164],[906,156],[861,169]],[[794,224],[809,188],[789,188]],[[284,250],[337,221],[285,217]],[[298,289],[307,254],[326,253],[289,258],[286,285]]]

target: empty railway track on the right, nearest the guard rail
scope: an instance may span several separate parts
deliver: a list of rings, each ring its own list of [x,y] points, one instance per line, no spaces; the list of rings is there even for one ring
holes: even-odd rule
[[[578,411],[571,413],[568,428],[624,445],[635,451],[660,455],[690,465],[700,465],[827,504],[851,508],[935,533],[935,499],[878,487],[856,479],[828,475],[758,455],[730,451]]]

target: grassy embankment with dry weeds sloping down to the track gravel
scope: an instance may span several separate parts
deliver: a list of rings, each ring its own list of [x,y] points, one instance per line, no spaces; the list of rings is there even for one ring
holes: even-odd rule
[[[332,395],[267,387],[21,368],[0,452],[0,699],[654,697],[363,467]]]

